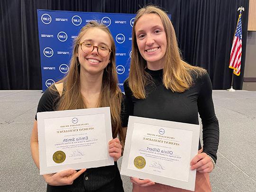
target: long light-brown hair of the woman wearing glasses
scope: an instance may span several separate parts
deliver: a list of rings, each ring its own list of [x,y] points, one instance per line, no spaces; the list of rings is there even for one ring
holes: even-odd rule
[[[118,77],[116,73],[115,42],[111,36],[109,28],[103,24],[91,21],[82,27],[77,38],[75,39],[73,44],[73,55],[69,64],[69,72],[62,80],[56,82],[63,82],[64,84],[63,93],[60,97],[56,110],[76,110],[87,108],[82,99],[82,94],[80,91],[80,63],[78,60],[77,51],[82,36],[88,31],[88,29],[94,27],[105,31],[109,35],[111,41],[110,63],[107,65],[103,72],[102,87],[98,107],[110,107],[113,138],[117,137],[119,134],[120,140],[123,140],[124,135],[121,129],[120,119],[122,93],[117,85]],[[55,88],[52,86],[51,90],[55,90]]]

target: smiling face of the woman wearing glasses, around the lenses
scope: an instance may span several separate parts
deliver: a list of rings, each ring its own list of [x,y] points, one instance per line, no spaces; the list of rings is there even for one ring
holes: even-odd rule
[[[80,43],[84,42],[85,45],[92,45],[98,47],[108,47],[111,49],[111,40],[105,31],[100,28],[93,27],[88,29],[82,36]],[[89,54],[84,53],[81,49],[82,45],[79,45],[77,56],[79,63],[81,64],[80,73],[97,74],[103,73],[103,70],[110,62],[110,54],[106,57],[102,57],[97,52],[97,47]],[[100,48],[99,48],[100,49]],[[100,50],[99,50],[100,51]]]

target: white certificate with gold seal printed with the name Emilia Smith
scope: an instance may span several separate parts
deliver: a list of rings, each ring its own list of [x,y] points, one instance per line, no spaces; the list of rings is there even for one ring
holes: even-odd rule
[[[114,165],[110,108],[37,113],[40,174]]]

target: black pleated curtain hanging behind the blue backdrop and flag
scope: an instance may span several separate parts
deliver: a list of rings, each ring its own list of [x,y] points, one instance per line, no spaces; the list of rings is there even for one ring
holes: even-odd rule
[[[0,0],[0,90],[42,89],[37,9],[136,13],[149,3],[172,15],[183,59],[207,69],[213,89],[231,86],[229,55],[243,6],[241,74],[233,86],[242,88],[248,0]]]

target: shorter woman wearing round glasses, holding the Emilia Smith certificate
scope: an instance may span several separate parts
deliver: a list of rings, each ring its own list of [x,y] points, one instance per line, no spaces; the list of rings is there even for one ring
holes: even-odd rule
[[[90,22],[73,46],[69,72],[42,95],[37,112],[110,107],[112,139],[109,154],[115,165],[45,174],[47,192],[123,192],[117,160],[121,156],[122,93],[117,85],[115,43],[108,27]],[[117,137],[119,135],[119,138]],[[31,153],[39,168],[37,116],[31,135]]]

